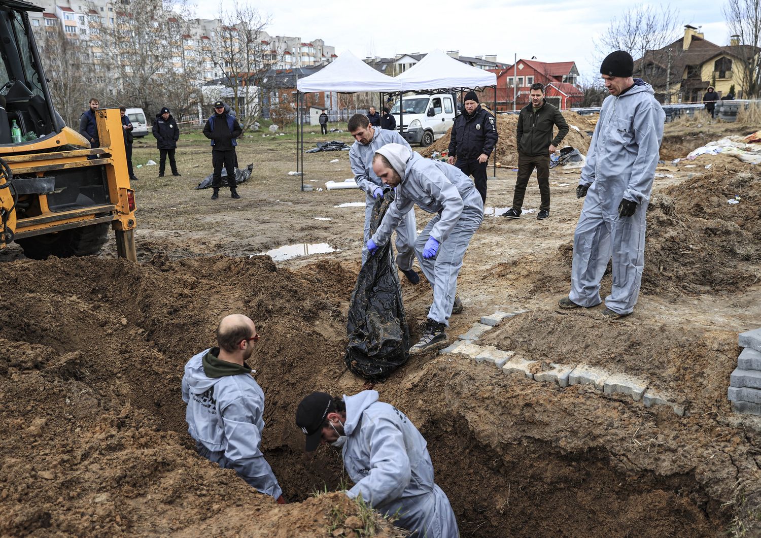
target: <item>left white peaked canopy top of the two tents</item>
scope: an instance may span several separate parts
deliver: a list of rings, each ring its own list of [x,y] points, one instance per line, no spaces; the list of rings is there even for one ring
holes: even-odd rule
[[[362,62],[348,50],[314,75],[296,83],[298,91],[400,91],[400,83]]]

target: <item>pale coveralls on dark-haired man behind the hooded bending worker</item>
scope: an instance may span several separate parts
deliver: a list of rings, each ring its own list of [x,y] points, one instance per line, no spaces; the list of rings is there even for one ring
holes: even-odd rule
[[[373,191],[377,187],[383,187],[383,182],[373,171],[373,156],[378,148],[387,144],[401,144],[409,148],[409,143],[396,131],[374,128],[373,139],[368,145],[355,141],[349,149],[349,163],[352,165],[354,180],[360,189],[365,191],[365,234],[362,237],[362,265],[368,259],[368,240],[370,239],[370,221],[373,215],[375,199]],[[411,210],[404,215],[403,221],[396,228],[396,266],[403,271],[412,269],[412,261],[415,259],[415,240],[417,228],[415,211]]]

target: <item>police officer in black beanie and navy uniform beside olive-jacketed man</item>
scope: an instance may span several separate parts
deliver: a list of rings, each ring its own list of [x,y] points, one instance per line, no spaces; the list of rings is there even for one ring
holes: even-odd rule
[[[447,162],[473,176],[486,204],[486,167],[499,138],[497,126],[492,113],[482,109],[475,91],[465,94],[463,107],[463,113],[454,119]]]

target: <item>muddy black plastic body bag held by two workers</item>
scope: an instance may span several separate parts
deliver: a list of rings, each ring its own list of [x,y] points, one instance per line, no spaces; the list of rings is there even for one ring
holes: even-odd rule
[[[377,230],[392,201],[391,190],[376,200],[371,234]],[[368,380],[388,377],[409,358],[409,329],[390,240],[378,247],[374,255],[368,255],[359,271],[352,291],[346,336],[349,338],[346,365]]]

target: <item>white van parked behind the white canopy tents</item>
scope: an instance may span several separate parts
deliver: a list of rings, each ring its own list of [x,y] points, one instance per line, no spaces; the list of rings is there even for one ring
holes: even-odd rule
[[[409,95],[397,100],[390,114],[401,126],[400,103],[403,103],[404,132],[410,144],[428,146],[447,133],[457,116],[457,99],[454,94]]]

